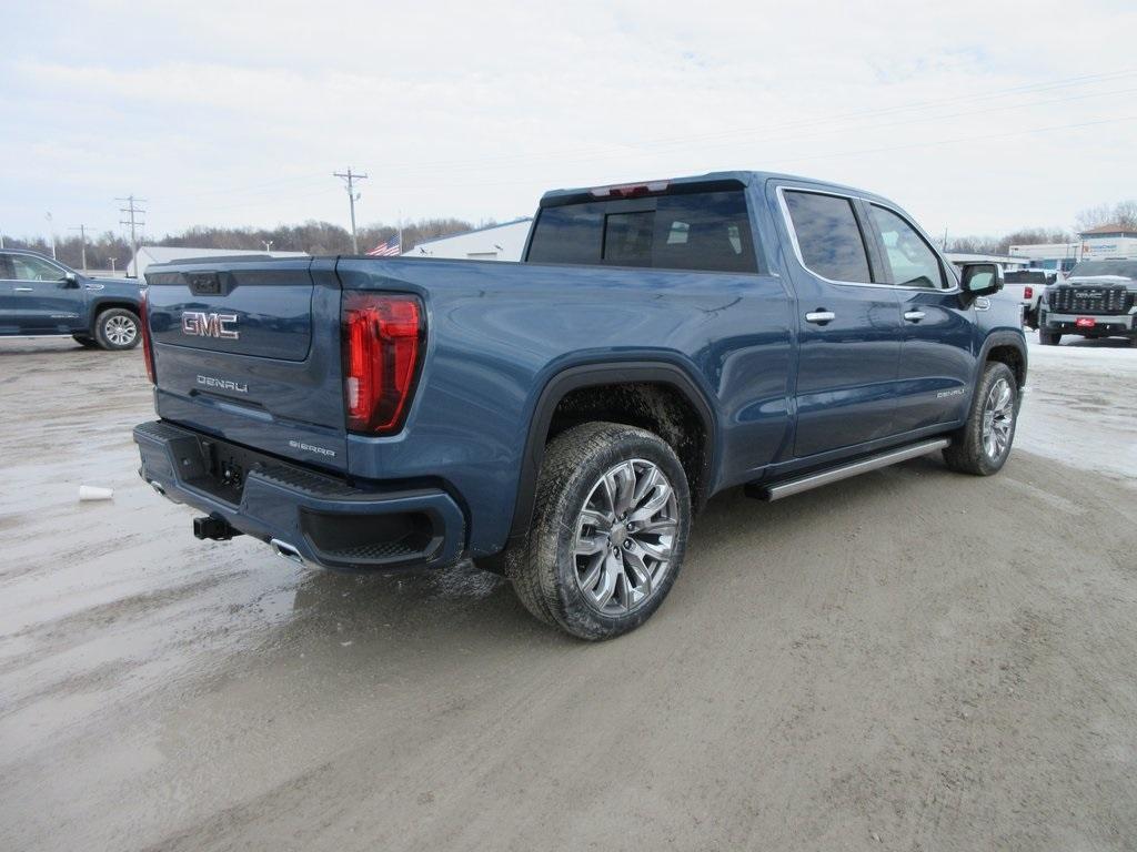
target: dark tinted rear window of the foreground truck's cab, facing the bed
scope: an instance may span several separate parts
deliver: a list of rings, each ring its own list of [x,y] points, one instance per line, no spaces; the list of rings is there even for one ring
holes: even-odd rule
[[[741,190],[546,207],[526,260],[757,272]]]

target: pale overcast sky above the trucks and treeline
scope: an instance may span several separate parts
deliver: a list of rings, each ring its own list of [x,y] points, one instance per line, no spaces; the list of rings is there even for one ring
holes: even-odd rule
[[[1137,197],[1137,3],[0,0],[0,232],[532,212],[773,169],[938,234]],[[1005,8],[1001,8],[1005,6]],[[919,9],[919,11],[914,11]]]

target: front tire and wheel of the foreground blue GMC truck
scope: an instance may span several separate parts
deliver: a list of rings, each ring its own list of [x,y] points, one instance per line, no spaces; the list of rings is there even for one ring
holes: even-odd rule
[[[1019,423],[1019,385],[1005,364],[991,361],[971,400],[966,425],[944,450],[953,470],[973,476],[997,474],[1006,463]]]

